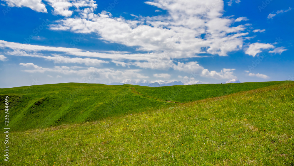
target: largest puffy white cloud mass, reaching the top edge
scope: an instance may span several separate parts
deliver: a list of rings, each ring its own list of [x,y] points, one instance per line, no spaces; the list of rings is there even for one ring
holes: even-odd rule
[[[162,53],[177,52],[176,57],[193,57],[200,53],[226,56],[227,52],[242,49],[243,25],[232,27],[233,19],[224,18],[223,1],[154,0],[145,2],[168,11],[164,16],[139,16],[134,20],[113,17],[111,13],[88,13],[65,18],[51,25],[52,30],[93,33],[101,39],[138,50]],[[211,4],[215,4],[211,8]],[[245,20],[245,17],[237,21]],[[146,25],[147,23],[147,25]],[[206,34],[205,39],[201,34]],[[223,47],[224,43],[227,43]],[[203,48],[209,48],[203,51]]]

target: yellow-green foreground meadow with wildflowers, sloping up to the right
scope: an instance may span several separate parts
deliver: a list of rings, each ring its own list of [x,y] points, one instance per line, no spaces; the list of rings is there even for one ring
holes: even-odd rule
[[[290,82],[96,122],[14,132],[10,161],[4,163],[1,155],[1,164],[290,166],[293,92]]]

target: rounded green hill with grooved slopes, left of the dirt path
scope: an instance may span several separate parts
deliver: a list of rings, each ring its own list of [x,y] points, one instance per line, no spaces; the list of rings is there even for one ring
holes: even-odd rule
[[[4,96],[9,96],[9,126],[14,131],[96,121],[173,105],[133,93],[129,87],[104,84],[66,83],[0,89],[1,108],[4,108]],[[4,120],[0,123],[4,126]]]

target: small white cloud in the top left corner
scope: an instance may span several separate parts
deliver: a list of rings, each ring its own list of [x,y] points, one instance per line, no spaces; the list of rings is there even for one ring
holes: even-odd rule
[[[10,7],[28,7],[34,11],[47,13],[47,9],[41,0],[3,0]]]

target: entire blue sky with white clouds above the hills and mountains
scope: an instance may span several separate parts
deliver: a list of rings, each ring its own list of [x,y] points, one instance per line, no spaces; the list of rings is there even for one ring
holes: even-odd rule
[[[0,88],[292,80],[288,0],[0,1]]]

